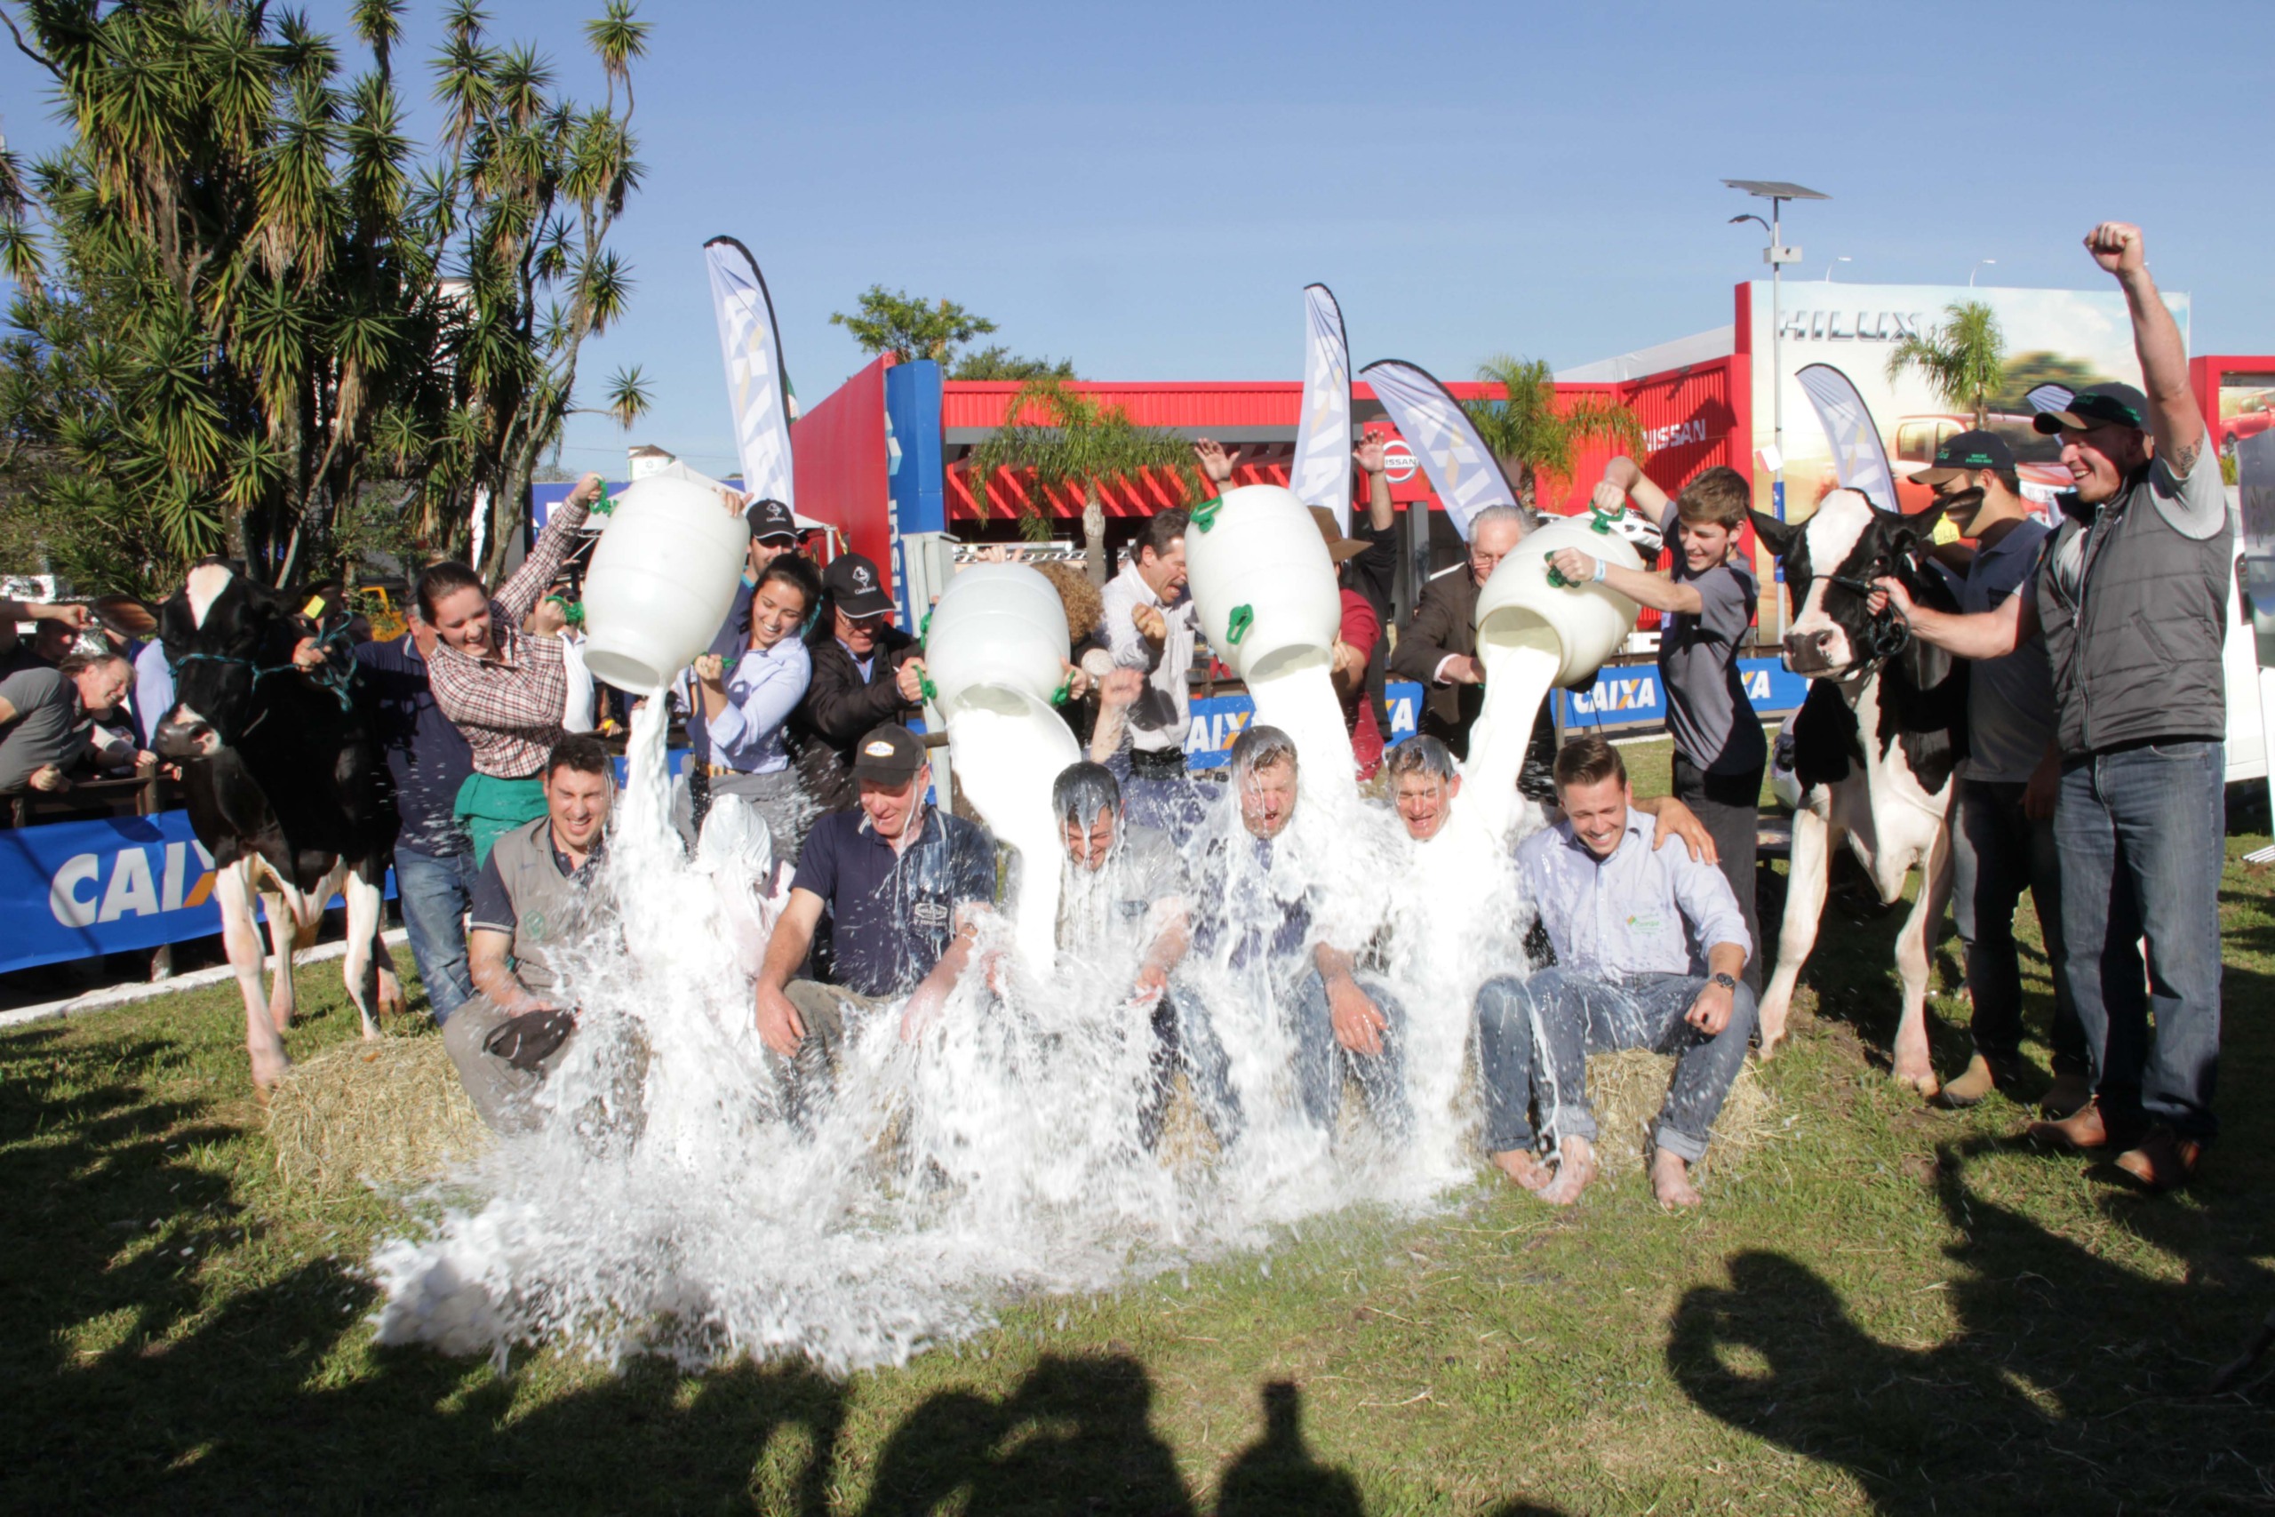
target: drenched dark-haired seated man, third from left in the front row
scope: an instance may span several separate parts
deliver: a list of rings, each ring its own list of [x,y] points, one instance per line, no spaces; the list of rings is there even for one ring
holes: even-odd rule
[[[1128,819],[1122,782],[1106,764],[1067,764],[1051,785],[1067,860],[1058,889],[1058,951],[1087,967],[1135,962],[1131,1010],[1153,1028],[1151,1089],[1138,1110],[1138,1133],[1151,1149],[1169,1108],[1178,1069],[1192,1085],[1217,1142],[1240,1130],[1240,1103],[1226,1073],[1224,1046],[1203,1017],[1183,1017],[1169,973],[1192,944],[1192,885],[1176,844],[1158,828]]]

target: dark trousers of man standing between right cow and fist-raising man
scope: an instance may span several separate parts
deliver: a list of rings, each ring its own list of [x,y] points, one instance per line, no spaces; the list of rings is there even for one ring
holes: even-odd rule
[[[2013,907],[2027,887],[2054,980],[2054,1073],[2086,1073],[2086,1033],[2077,1023],[2061,935],[2054,823],[2022,814],[2022,789],[2020,780],[1959,780],[1952,814],[1952,921],[1975,1001],[1975,1051],[1993,1064],[2022,1055],[2022,960],[2013,946]]]

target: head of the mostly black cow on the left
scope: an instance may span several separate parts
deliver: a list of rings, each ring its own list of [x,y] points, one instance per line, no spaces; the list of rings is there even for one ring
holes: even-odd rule
[[[209,757],[253,730],[264,712],[262,671],[291,664],[300,628],[289,607],[228,564],[198,564],[157,612],[173,666],[175,705],[159,721],[166,757]]]

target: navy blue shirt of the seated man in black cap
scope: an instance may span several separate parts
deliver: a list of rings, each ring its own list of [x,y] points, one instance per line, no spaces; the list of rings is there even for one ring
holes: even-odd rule
[[[792,889],[821,896],[817,976],[862,996],[899,996],[933,971],[956,937],[956,907],[994,901],[987,828],[924,807],[924,830],[903,853],[862,810],[830,812],[805,835]]]

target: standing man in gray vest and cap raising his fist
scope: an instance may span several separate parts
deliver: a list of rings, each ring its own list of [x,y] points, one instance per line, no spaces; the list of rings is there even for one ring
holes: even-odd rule
[[[1938,616],[1893,580],[1879,585],[1920,639],[1961,657],[2002,657],[2045,632],[2061,744],[2061,926],[2093,1103],[2032,1135],[2120,1146],[2120,1169],[2166,1189],[2195,1171],[2218,1130],[2220,644],[2234,525],[2141,227],[2104,221],[2086,250],[2125,291],[2148,393],[2093,384],[2038,416],[2041,432],[2061,434],[2077,489],[2061,498],[2063,521],[2032,594],[1977,616]],[[2134,946],[2143,937],[2145,964]]]

